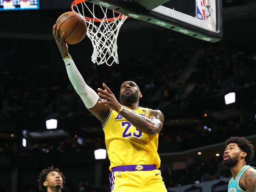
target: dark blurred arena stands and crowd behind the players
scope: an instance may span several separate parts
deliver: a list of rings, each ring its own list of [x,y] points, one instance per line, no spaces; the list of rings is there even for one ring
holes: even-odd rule
[[[158,153],[169,192],[227,191],[224,141],[244,136],[256,146],[256,4],[222,1],[217,43],[129,18],[118,36],[119,64],[93,64],[87,37],[68,46],[93,90],[106,83],[119,98],[121,83],[132,80],[140,106],[163,112]],[[66,177],[64,192],[109,192],[108,157],[94,157],[106,149],[101,123],[71,85],[52,36],[72,1],[39,3],[0,11],[0,191],[39,191],[39,173],[54,165]],[[226,105],[230,92],[236,100]],[[57,129],[46,129],[49,119]]]

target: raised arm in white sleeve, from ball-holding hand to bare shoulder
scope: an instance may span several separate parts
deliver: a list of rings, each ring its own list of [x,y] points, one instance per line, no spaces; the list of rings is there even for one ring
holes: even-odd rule
[[[75,88],[78,95],[84,102],[84,105],[88,110],[95,115],[103,124],[107,119],[110,111],[107,105],[100,105],[98,101],[102,101],[98,94],[89,87],[81,74],[79,73],[76,65],[70,55],[68,54],[68,45],[64,42],[64,33],[59,36],[59,28],[56,25],[53,26],[52,34],[55,38],[56,44],[59,47],[60,54],[65,62],[69,80]]]

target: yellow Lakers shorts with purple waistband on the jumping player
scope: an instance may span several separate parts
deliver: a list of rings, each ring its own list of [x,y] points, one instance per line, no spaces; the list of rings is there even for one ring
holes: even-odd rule
[[[111,192],[167,192],[155,165],[113,167],[109,180]]]

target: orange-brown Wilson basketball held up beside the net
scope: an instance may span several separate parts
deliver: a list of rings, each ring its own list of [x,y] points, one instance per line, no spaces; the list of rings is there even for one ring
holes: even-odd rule
[[[66,44],[77,44],[82,41],[87,32],[84,17],[76,12],[65,12],[56,21],[57,28],[60,27],[60,36],[65,32]]]

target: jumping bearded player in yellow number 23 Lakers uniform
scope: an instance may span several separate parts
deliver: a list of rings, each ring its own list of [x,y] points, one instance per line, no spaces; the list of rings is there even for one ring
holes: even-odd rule
[[[158,170],[158,134],[164,122],[162,112],[139,107],[142,93],[132,81],[121,85],[121,104],[106,84],[103,84],[104,89],[98,88],[98,94],[94,92],[68,54],[64,35],[60,37],[59,28],[53,26],[53,36],[72,85],[86,108],[102,123],[110,160],[111,192],[167,192]]]

